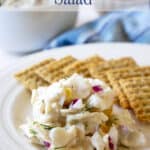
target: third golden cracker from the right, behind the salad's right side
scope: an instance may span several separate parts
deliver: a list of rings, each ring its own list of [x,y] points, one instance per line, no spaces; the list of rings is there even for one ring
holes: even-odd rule
[[[100,62],[97,64],[92,64],[89,70],[92,77],[101,79],[110,85],[106,75],[109,70],[135,66],[137,66],[137,64],[134,59],[130,57],[124,57],[120,59],[112,59],[102,63]]]

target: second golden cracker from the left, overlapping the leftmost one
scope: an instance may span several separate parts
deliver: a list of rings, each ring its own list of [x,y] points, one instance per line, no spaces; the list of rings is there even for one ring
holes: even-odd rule
[[[45,68],[36,70],[36,74],[48,83],[53,83],[61,78],[66,77],[63,68],[75,62],[76,59],[72,56],[66,56],[52,64],[47,65]]]

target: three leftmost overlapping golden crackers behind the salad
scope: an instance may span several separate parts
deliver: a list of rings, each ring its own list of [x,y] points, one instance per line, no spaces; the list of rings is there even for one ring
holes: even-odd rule
[[[104,59],[98,55],[79,61],[72,56],[66,56],[60,60],[46,59],[15,75],[26,89],[33,90],[39,86],[48,86],[73,73],[90,76],[88,65],[99,63]],[[73,70],[73,71],[72,71]]]

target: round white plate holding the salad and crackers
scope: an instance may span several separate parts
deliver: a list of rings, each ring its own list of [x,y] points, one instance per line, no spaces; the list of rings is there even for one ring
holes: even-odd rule
[[[90,44],[45,51],[20,59],[17,64],[0,74],[0,150],[35,150],[21,134],[19,125],[30,113],[30,93],[13,78],[13,74],[24,67],[48,57],[60,58],[72,54],[85,58],[100,54],[106,59],[132,56],[140,65],[150,65],[150,46],[130,44]],[[148,148],[149,149],[149,148]],[[148,150],[147,149],[147,150]]]

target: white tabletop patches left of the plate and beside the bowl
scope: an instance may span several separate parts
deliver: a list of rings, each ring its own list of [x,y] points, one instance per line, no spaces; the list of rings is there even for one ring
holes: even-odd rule
[[[98,17],[99,17],[99,14],[96,13],[96,11],[93,8],[89,8],[86,11],[84,11],[84,8],[80,9],[78,19],[76,22],[76,26],[80,26]],[[14,64],[15,61],[18,61],[19,58],[22,58],[22,57],[24,56],[10,54],[10,53],[4,52],[4,50],[0,50],[0,64],[1,64],[0,70],[11,67],[11,64]]]

